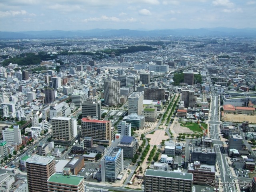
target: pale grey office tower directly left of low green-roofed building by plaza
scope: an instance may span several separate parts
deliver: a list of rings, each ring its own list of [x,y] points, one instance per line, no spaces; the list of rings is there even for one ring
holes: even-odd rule
[[[128,114],[142,115],[144,95],[142,92],[134,92],[128,97]]]

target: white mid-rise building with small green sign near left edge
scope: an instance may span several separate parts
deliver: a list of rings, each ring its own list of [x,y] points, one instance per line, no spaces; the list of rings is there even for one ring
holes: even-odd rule
[[[20,126],[14,125],[13,128],[3,128],[3,140],[6,141],[8,145],[13,143],[21,144]]]

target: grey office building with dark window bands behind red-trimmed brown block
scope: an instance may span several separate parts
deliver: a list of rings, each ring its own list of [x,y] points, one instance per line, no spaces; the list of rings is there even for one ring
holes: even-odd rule
[[[82,103],[82,117],[92,116],[101,119],[101,101],[96,99],[86,99]]]

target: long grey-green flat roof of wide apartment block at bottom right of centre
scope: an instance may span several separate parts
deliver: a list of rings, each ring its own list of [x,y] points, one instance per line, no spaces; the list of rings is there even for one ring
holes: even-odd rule
[[[145,172],[145,176],[154,176],[154,177],[163,177],[163,178],[175,178],[182,180],[193,180],[192,173],[178,173],[172,171],[161,171],[154,169],[147,169]]]

